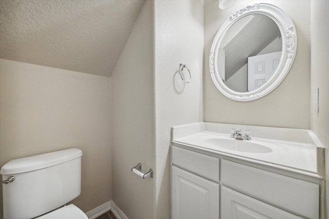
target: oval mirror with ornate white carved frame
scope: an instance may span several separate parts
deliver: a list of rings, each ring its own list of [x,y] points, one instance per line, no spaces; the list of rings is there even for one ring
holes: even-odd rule
[[[283,81],[296,47],[294,23],[280,8],[263,3],[243,7],[227,19],[212,43],[212,80],[231,99],[258,99]]]

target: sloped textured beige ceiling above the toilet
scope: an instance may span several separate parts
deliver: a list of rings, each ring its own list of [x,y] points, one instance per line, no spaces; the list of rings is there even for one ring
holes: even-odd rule
[[[111,76],[143,0],[0,0],[0,58]]]

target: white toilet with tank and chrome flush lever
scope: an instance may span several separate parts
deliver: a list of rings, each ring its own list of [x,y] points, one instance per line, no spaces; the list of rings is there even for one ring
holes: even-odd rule
[[[0,173],[3,180],[5,219],[87,219],[77,206],[68,202],[81,193],[80,149],[71,148],[12,160]]]

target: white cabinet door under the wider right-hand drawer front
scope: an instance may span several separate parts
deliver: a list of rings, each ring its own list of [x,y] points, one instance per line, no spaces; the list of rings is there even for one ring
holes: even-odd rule
[[[221,219],[301,219],[297,215],[255,200],[225,186],[221,187]]]

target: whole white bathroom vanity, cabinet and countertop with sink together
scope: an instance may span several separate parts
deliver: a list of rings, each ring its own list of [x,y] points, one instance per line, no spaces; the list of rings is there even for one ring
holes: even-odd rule
[[[312,131],[197,123],[172,128],[171,153],[173,219],[324,219],[324,148]]]

